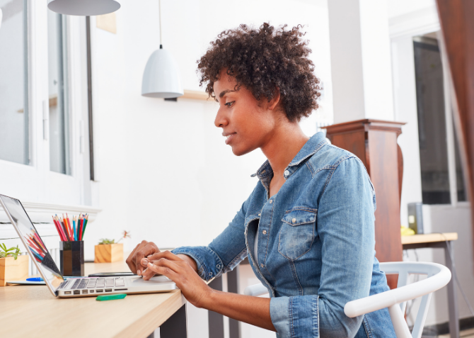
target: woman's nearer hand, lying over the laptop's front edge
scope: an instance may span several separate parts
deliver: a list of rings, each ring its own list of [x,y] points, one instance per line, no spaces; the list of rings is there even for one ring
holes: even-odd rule
[[[187,301],[197,308],[202,308],[206,296],[212,293],[212,288],[209,288],[187,261],[169,251],[156,253],[149,259],[144,258],[141,264],[147,264],[143,276],[145,281],[154,274],[170,278],[181,289]]]

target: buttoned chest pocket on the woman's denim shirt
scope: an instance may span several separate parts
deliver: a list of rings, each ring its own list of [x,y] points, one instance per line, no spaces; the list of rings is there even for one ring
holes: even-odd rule
[[[306,254],[316,237],[317,209],[296,207],[287,210],[278,235],[278,252],[294,261]]]

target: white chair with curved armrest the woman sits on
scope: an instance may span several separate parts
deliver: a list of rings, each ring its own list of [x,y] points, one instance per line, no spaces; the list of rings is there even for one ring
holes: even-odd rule
[[[449,283],[451,280],[451,271],[441,264],[408,261],[381,263],[380,269],[381,271],[385,271],[386,274],[398,274],[397,288],[378,293],[377,295],[352,300],[345,305],[345,314],[347,317],[352,318],[388,308],[397,338],[420,338],[422,336],[424,320],[426,320],[427,317],[429,300],[431,299],[432,293]],[[410,274],[424,274],[427,275],[427,278],[407,285],[408,276]],[[244,291],[245,295],[254,296],[264,295],[265,293],[268,293],[268,291],[262,284],[248,286]],[[403,314],[405,313],[407,300],[418,297],[422,297],[422,300],[415,325],[412,333],[410,333]]]

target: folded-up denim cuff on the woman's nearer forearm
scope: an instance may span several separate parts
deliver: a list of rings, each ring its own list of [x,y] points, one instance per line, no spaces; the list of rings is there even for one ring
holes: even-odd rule
[[[270,317],[278,337],[319,338],[318,300],[318,295],[272,298]]]

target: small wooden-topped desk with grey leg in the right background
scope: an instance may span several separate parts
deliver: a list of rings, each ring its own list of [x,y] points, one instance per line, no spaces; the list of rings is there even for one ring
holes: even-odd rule
[[[441,248],[444,249],[445,264],[453,272],[454,249],[452,241],[458,239],[457,232],[444,232],[424,235],[402,236],[402,246],[407,249]],[[454,274],[446,286],[448,291],[449,333],[451,338],[459,337],[458,298],[456,296],[456,281]]]

